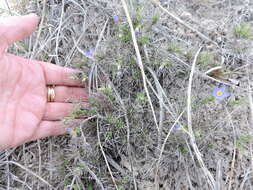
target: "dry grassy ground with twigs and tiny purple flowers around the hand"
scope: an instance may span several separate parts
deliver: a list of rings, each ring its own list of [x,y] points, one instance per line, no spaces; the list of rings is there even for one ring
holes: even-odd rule
[[[80,69],[91,107],[0,152],[0,189],[253,189],[252,1],[11,3],[41,24],[9,51]]]

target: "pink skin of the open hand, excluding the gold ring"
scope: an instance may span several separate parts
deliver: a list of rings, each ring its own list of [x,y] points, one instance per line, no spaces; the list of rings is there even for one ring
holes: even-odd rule
[[[29,60],[6,52],[28,37],[38,25],[34,14],[0,20],[0,150],[66,133],[62,118],[73,101],[87,102],[77,71]],[[55,85],[55,101],[47,102],[47,85]]]

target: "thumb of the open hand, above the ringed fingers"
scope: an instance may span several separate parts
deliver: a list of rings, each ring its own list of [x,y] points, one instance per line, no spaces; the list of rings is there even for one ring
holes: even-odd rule
[[[13,16],[0,19],[0,49],[28,37],[38,25],[39,18],[35,14]]]

